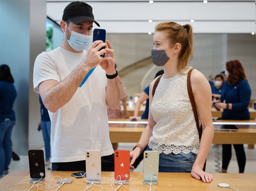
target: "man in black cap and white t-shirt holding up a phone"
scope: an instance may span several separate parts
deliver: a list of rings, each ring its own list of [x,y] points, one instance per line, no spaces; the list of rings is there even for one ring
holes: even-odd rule
[[[119,104],[117,71],[108,40],[90,46],[93,22],[99,26],[90,5],[67,5],[60,22],[61,46],[35,61],[34,90],[51,118],[52,170],[84,171],[86,150],[100,150],[102,171],[114,171],[107,105]]]

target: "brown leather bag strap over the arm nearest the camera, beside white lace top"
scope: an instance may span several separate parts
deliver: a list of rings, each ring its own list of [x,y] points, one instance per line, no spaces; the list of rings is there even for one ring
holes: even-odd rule
[[[200,125],[199,125],[199,118],[198,118],[198,114],[197,114],[197,110],[196,110],[196,103],[195,103],[195,99],[194,99],[194,95],[193,95],[193,91],[191,88],[191,81],[190,81],[190,76],[191,76],[191,72],[194,69],[190,69],[188,72],[188,77],[187,77],[187,88],[188,88],[188,96],[192,105],[192,109],[194,112],[194,117],[196,120],[196,127],[197,127],[197,131],[198,131],[198,135],[199,135],[199,140],[201,140],[201,129],[200,129]]]

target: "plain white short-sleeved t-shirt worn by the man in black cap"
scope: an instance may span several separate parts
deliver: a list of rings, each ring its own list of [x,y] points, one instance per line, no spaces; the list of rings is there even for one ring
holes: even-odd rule
[[[39,54],[34,65],[34,91],[45,80],[61,82],[82,61],[83,53],[58,47]],[[85,160],[87,150],[100,150],[101,156],[114,153],[109,139],[106,104],[107,78],[99,65],[70,101],[51,118],[51,162]]]

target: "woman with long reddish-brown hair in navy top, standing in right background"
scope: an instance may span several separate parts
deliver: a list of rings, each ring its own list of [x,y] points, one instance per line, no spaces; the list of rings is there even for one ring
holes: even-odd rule
[[[219,109],[224,109],[221,119],[228,120],[250,120],[248,106],[251,99],[251,88],[246,79],[244,68],[238,60],[226,63],[227,81],[223,85],[223,90],[219,103],[214,105]],[[244,145],[234,145],[239,173],[244,172],[246,156]],[[231,145],[222,145],[222,173],[226,173],[231,159]]]

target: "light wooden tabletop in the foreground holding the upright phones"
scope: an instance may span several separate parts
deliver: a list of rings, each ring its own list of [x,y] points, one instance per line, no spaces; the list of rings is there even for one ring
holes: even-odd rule
[[[45,183],[57,184],[57,180],[61,178],[71,178],[71,173],[69,171],[46,171]],[[191,177],[190,173],[170,173],[170,172],[159,172],[158,185],[155,185],[156,189],[159,191],[173,190],[173,191],[183,191],[183,190],[209,190],[209,191],[225,191],[232,190],[230,188],[221,188],[218,187],[219,183],[227,183],[231,187],[236,188],[237,190],[246,190],[246,191],[255,191],[256,190],[256,174],[233,174],[233,173],[212,173],[213,181],[209,184],[202,182],[201,180],[196,180]],[[54,178],[53,178],[54,177]],[[76,179],[72,178],[73,182],[71,184],[64,184],[59,188],[60,191],[65,190],[85,190],[87,184],[82,178]],[[0,179],[0,189],[10,190],[28,190],[33,184],[28,184],[30,180],[29,171],[12,171],[9,175]],[[102,182],[114,182],[114,172],[102,172]],[[143,182],[143,173],[142,172],[131,172],[131,178],[129,184],[125,185],[133,190],[144,191],[149,190],[149,187],[142,185]],[[26,184],[19,184],[26,183]],[[14,184],[19,184],[16,186],[10,186]],[[103,186],[103,190],[112,190],[111,183],[100,184]],[[118,185],[113,185],[113,188],[116,188]],[[38,190],[56,190],[57,187],[51,189],[40,189]],[[37,190],[35,188],[35,190]],[[92,186],[89,190],[101,190],[99,186]],[[129,190],[124,186],[121,186],[119,191]]]

